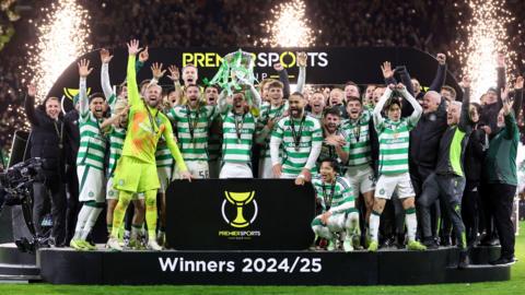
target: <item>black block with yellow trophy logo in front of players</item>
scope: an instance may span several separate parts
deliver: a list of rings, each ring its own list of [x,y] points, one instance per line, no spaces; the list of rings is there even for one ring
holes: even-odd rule
[[[290,179],[177,180],[166,192],[166,239],[177,250],[304,250],[314,188]]]

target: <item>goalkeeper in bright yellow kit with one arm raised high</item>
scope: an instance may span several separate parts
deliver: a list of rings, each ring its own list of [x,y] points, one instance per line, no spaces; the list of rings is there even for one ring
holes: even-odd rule
[[[138,40],[128,44],[128,99],[129,120],[128,132],[124,142],[122,156],[115,170],[115,188],[119,190],[119,200],[115,208],[112,236],[107,243],[109,248],[121,250],[117,235],[124,220],[126,209],[137,192],[143,192],[145,198],[145,222],[148,225],[148,248],[161,250],[156,243],[156,191],[160,188],[155,165],[155,150],[159,139],[163,135],[176,161],[180,176],[190,180],[186,164],[173,138],[173,130],[167,117],[158,109],[162,103],[162,88],[150,84],[145,97],[140,98],[137,74],[135,70],[137,54],[141,50]]]

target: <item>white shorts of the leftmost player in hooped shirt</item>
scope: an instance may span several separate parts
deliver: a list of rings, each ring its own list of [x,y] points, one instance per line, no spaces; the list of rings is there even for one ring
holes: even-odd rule
[[[104,172],[86,165],[77,166],[79,176],[79,201],[95,201],[104,203],[106,196],[104,193]]]

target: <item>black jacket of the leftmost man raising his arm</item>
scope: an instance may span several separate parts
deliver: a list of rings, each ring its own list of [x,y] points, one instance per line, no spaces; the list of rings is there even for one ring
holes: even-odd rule
[[[35,98],[25,98],[25,111],[31,122],[31,157],[40,157],[46,176],[63,176],[66,130],[62,118],[46,115],[44,106],[35,108]]]

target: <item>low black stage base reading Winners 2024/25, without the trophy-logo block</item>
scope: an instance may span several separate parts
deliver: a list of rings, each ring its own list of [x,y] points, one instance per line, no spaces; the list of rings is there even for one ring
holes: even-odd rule
[[[368,251],[95,251],[70,248],[21,253],[0,245],[0,280],[54,284],[416,285],[508,281],[511,267],[493,267],[499,247],[471,250],[457,269],[458,250]]]

